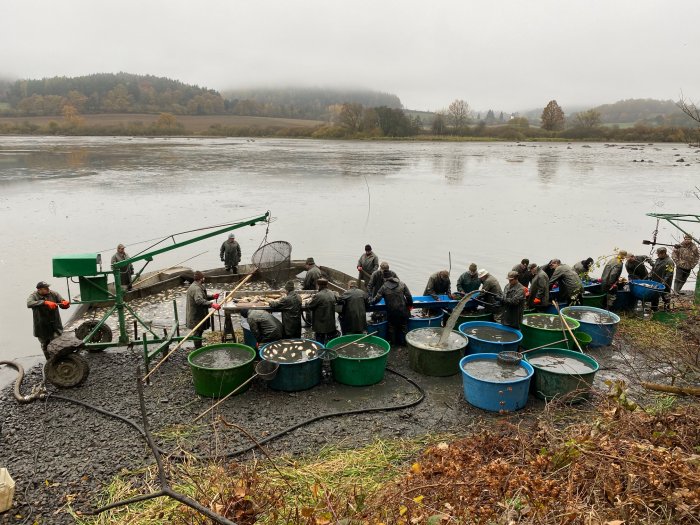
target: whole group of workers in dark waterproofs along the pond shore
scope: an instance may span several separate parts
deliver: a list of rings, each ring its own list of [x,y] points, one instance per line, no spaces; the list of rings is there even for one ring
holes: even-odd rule
[[[220,257],[227,271],[237,273],[241,248],[234,234],[230,234],[222,244]],[[124,245],[120,244],[112,257],[112,265],[128,258]],[[663,284],[664,290],[659,296],[664,309],[669,309],[671,294],[680,292],[699,261],[698,246],[688,234],[684,235],[682,242],[673,246],[670,256],[664,246],[656,249],[656,259],[618,250],[605,264],[599,279],[601,290],[606,294],[606,307],[614,300],[617,287],[622,282],[624,267],[630,280],[648,279]],[[647,264],[650,268],[647,268]],[[449,272],[441,270],[429,277],[423,295],[447,295],[450,299],[458,299],[478,290],[480,293],[475,298],[476,304],[493,313],[503,325],[519,328],[526,308],[534,311],[549,308],[552,303],[550,291],[555,287],[558,287],[560,302],[569,306],[580,304],[583,284],[591,280],[593,266],[594,260],[591,257],[573,266],[563,264],[559,259],[552,259],[544,265],[522,259],[508,272],[507,283],[501,288],[494,275],[486,269],[478,269],[477,265],[472,263],[467,271],[459,276],[456,293],[452,292]],[[306,325],[311,326],[317,341],[325,344],[339,335],[336,328],[336,306],[340,306],[342,333],[360,334],[367,330],[368,307],[384,299],[388,339],[394,344],[403,344],[413,308],[413,297],[406,284],[389,268],[389,264],[379,263],[369,244],[365,246],[365,251],[357,262],[358,280],[351,280],[348,289],[342,294],[329,289],[328,279],[313,257],[306,259],[305,269],[302,290],[315,292],[312,299],[304,305],[309,313]],[[131,287],[132,275],[133,267],[130,264],[120,269],[122,287]],[[294,281],[288,281],[284,290],[285,295],[282,298],[270,303],[270,310],[281,312],[281,321],[266,310],[240,312],[259,344],[301,337],[301,297]],[[203,332],[210,327],[209,319],[206,319],[209,309],[221,308],[217,302],[218,298],[218,293],[208,293],[204,274],[200,271],[194,272],[194,280],[187,290],[187,327],[194,329],[195,348],[202,346]],[[58,309],[69,306],[70,302],[51,290],[49,284],[44,281],[37,283],[36,291],[27,299],[27,307],[33,312],[34,335],[39,339],[47,359],[48,344],[63,332]],[[651,308],[658,310],[658,296],[652,299]]]

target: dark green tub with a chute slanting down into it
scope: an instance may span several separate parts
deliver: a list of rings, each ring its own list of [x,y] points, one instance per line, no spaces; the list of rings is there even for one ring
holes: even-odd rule
[[[442,328],[416,328],[406,334],[408,366],[426,376],[447,377],[459,372],[459,360],[464,356],[469,340],[455,330],[450,332],[447,348],[436,348]]]

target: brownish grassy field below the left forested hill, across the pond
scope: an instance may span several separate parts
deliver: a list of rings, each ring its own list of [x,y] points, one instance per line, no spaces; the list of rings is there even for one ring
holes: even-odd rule
[[[99,115],[81,115],[86,126],[127,126],[129,124],[140,122],[147,126],[154,123],[158,119],[158,115],[150,115],[143,113],[134,114],[99,114]],[[201,133],[208,130],[211,126],[219,125],[224,127],[280,127],[280,128],[305,128],[314,127],[323,124],[319,120],[300,120],[275,117],[241,117],[237,115],[179,115],[176,117],[185,129],[194,133]],[[46,126],[49,122],[55,121],[61,123],[64,119],[59,116],[52,117],[0,117],[0,126],[3,124],[22,124],[29,122],[37,126]]]

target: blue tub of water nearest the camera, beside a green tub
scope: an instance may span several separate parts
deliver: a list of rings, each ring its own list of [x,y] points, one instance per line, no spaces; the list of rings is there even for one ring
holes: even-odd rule
[[[469,343],[471,345],[471,342]],[[459,369],[462,372],[462,384],[464,385],[464,399],[471,405],[491,412],[512,412],[519,410],[527,404],[527,396],[530,390],[530,379],[534,369],[532,365],[524,359],[517,365],[527,372],[526,377],[519,377],[512,381],[487,381],[477,379],[464,370],[464,364],[477,359],[488,359],[494,361],[497,366],[498,355],[496,354],[472,354],[464,356],[459,362]]]

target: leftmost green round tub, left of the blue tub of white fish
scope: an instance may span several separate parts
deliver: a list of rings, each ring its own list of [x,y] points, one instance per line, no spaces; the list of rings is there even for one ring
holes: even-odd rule
[[[228,367],[216,366],[217,361],[225,366],[226,354],[231,351],[240,355],[245,362]],[[217,359],[216,353],[221,353],[222,359]],[[203,360],[211,364],[205,366],[196,362]],[[187,356],[187,361],[192,370],[195,392],[200,396],[223,397],[253,377],[255,350],[238,343],[219,343],[198,348]],[[247,384],[239,393],[245,392],[249,387],[250,384]]]

